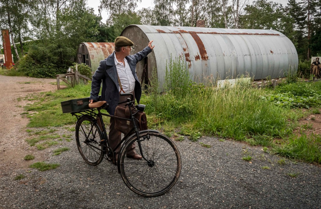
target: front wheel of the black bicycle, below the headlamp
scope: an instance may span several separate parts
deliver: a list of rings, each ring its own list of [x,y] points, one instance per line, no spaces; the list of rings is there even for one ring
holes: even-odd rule
[[[126,157],[126,150],[136,143],[139,153],[140,141],[145,159]],[[172,188],[181,171],[181,157],[177,146],[167,136],[156,132],[145,132],[130,139],[120,153],[120,174],[126,186],[142,196],[159,196]]]

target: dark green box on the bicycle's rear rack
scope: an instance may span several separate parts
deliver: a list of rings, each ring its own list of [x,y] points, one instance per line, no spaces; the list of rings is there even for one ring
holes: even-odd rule
[[[101,96],[99,96],[100,100]],[[61,109],[63,113],[75,113],[88,110],[89,97],[81,99],[71,99],[61,102]]]

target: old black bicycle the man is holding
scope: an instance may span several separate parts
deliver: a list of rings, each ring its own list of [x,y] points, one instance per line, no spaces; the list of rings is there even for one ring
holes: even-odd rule
[[[129,119],[101,113],[102,109],[108,107],[107,103],[100,107],[71,112],[77,117],[75,138],[80,155],[86,163],[96,166],[102,162],[104,156],[108,161],[116,159],[115,150],[121,146],[115,164],[126,186],[142,196],[162,195],[172,188],[179,178],[181,157],[178,148],[170,138],[157,130],[139,130],[132,108],[143,112],[145,105],[134,106],[133,94],[125,93],[121,96],[131,96],[131,99],[127,98],[126,101],[118,103],[126,103],[125,106],[131,107]],[[109,147],[102,116],[131,121],[133,124],[133,128],[114,149]],[[132,143],[138,145],[141,160],[126,157],[126,150]]]

